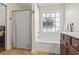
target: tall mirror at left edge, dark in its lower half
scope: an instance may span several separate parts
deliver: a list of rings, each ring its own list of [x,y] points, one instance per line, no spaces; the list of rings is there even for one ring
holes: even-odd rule
[[[5,34],[7,33],[5,30],[7,27],[7,9],[6,5],[0,3],[0,52],[5,50],[5,42],[6,37]]]

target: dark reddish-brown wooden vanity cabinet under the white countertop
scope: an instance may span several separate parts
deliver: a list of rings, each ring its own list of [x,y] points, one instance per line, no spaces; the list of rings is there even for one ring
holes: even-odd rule
[[[79,55],[79,39],[64,33],[60,34],[60,54]]]

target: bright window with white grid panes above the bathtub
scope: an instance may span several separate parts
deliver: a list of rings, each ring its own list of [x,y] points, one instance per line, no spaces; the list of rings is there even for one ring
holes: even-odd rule
[[[60,18],[60,12],[43,13],[43,32],[58,32],[60,30]]]

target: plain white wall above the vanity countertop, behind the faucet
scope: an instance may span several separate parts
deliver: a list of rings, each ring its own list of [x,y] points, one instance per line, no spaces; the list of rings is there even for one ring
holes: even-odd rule
[[[65,5],[65,24],[74,23],[74,32],[79,32],[79,3]]]

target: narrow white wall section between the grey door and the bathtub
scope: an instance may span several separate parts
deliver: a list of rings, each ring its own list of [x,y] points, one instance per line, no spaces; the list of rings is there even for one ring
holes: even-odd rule
[[[32,5],[32,52],[36,51],[36,40],[38,40],[39,32],[39,9],[37,4]]]

